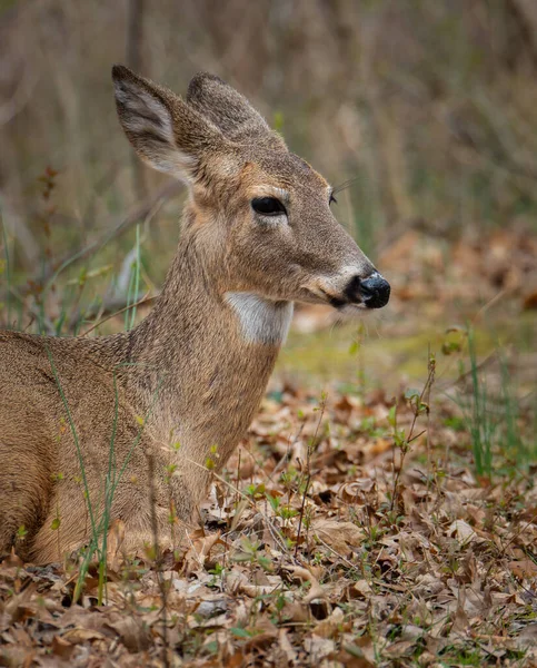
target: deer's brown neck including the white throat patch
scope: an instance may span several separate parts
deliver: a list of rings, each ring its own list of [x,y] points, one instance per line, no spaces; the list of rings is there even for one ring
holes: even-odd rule
[[[292,304],[215,287],[188,236],[161,295],[129,334],[129,383],[155,400],[166,433],[221,445],[247,430],[287,335]]]

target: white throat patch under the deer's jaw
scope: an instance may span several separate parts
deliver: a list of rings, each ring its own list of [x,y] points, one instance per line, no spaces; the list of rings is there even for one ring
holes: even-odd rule
[[[237,314],[242,335],[250,343],[281,345],[292,317],[292,302],[272,302],[252,293],[226,293]]]

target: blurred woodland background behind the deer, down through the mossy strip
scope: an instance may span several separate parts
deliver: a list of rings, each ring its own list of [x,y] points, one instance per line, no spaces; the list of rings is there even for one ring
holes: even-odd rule
[[[471,326],[535,406],[534,0],[2,0],[0,55],[3,326],[133,324],[109,316],[158,293],[183,191],[136,160],[110,68],[178,92],[209,70],[342,186],[336,215],[392,285],[362,322],[298,310],[278,377],[395,391]]]

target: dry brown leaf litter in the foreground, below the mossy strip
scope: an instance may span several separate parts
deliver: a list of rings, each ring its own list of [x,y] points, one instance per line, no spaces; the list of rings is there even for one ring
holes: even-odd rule
[[[389,402],[334,393],[319,423],[314,399],[265,401],[180,553],[112,541],[105,606],[91,570],[72,605],[76,563],[4,559],[0,665],[537,665],[531,478],[484,484],[425,436],[397,477]]]

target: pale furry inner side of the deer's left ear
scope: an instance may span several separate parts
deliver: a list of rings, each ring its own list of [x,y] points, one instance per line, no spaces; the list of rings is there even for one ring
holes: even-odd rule
[[[121,125],[139,156],[159,171],[186,179],[196,160],[177,146],[171,115],[158,97],[136,82],[116,82]]]

